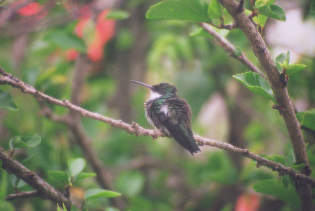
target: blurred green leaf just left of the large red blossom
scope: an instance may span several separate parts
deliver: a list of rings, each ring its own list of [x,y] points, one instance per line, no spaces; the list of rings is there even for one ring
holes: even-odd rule
[[[80,52],[86,51],[83,40],[65,30],[51,32],[44,37],[44,40],[64,50],[74,48]]]

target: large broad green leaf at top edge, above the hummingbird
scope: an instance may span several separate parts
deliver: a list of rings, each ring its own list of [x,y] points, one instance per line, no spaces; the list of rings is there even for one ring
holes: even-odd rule
[[[193,22],[210,22],[208,5],[200,0],[163,0],[146,13],[148,19],[173,19]]]

